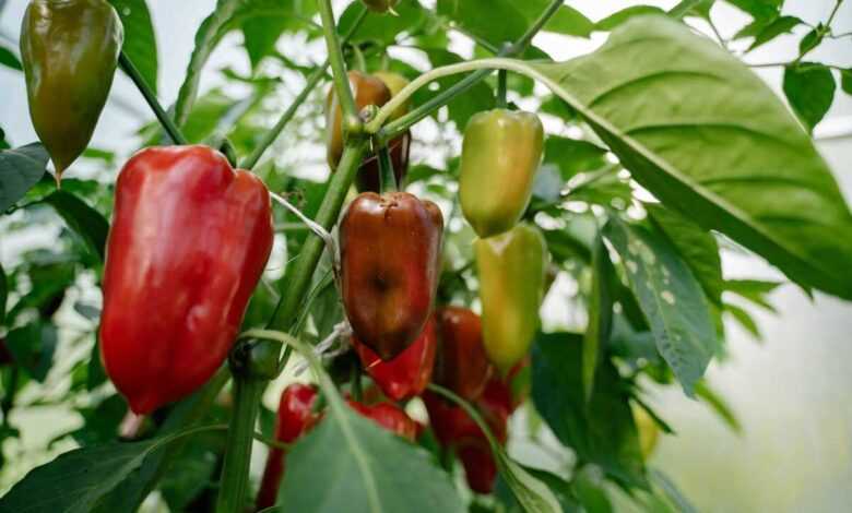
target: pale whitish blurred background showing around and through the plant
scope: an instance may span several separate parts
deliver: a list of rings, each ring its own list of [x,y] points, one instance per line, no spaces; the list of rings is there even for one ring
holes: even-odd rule
[[[4,46],[17,46],[20,23],[26,0],[0,0],[0,40]],[[336,2],[342,8],[348,2]],[[422,0],[424,5],[434,0]],[[632,4],[655,4],[665,9],[676,1],[566,1],[592,21]],[[788,0],[784,13],[810,24],[825,21],[835,0]],[[149,0],[159,48],[158,91],[161,102],[169,105],[177,96],[187,62],[193,47],[194,28],[214,8],[215,0]],[[712,19],[724,38],[731,37],[747,21],[747,16],[730,7],[717,3]],[[701,22],[693,25],[709,33]],[[852,31],[852,2],[842,4],[835,17],[835,33]],[[807,27],[781,36],[744,59],[750,64],[790,61],[797,55],[797,45]],[[587,53],[605,39],[593,34],[590,39],[556,35],[539,35],[535,43],[563,60]],[[282,48],[301,48],[299,62],[317,62],[324,57],[321,45],[306,45],[293,37],[279,41]],[[299,46],[300,45],[300,46]],[[470,55],[472,49],[461,37],[453,40],[454,50]],[[736,46],[734,46],[736,48]],[[814,60],[852,67],[852,37],[827,40],[813,55]],[[230,68],[249,72],[241,48],[241,36],[232,34],[220,45],[205,68],[201,81],[203,91],[230,87],[220,70]],[[781,67],[756,68],[755,71],[777,92],[781,90]],[[301,87],[301,77],[284,84],[281,103]],[[282,107],[283,108],[283,107]],[[138,131],[150,120],[147,107],[132,83],[117,74],[105,114],[92,145],[126,155],[140,144]],[[29,122],[23,75],[0,67],[0,127],[14,145],[35,141]],[[434,134],[429,123],[418,127],[415,141],[427,141]],[[831,110],[817,126],[818,146],[841,184],[847,200],[852,200],[852,97],[838,93]],[[286,148],[286,132],[280,150]],[[458,142],[457,142],[458,144]],[[322,148],[300,145],[288,160],[308,162],[319,169]],[[430,158],[423,143],[413,146],[414,163]],[[81,170],[82,169],[82,170]],[[305,168],[303,167],[303,171]],[[85,172],[85,167],[71,174]],[[72,175],[69,175],[72,176]],[[49,244],[56,234],[27,234],[25,237],[0,235],[0,259],[3,264],[14,260],[22,248]],[[761,260],[725,251],[726,278],[782,276]],[[852,272],[852,269],[850,270]],[[820,294],[807,297],[794,285],[785,284],[770,296],[776,314],[754,310],[757,329],[764,342],[742,329],[729,326],[729,356],[721,365],[713,361],[708,382],[729,402],[742,430],[733,432],[705,406],[686,398],[677,387],[655,394],[653,406],[677,431],[661,439],[652,464],[662,468],[685,494],[705,512],[840,512],[852,506],[852,303]],[[734,301],[735,302],[735,301]],[[547,315],[559,322],[565,315],[551,308]],[[730,319],[729,319],[730,321]],[[273,394],[274,396],[274,394]],[[46,440],[62,432],[78,419],[61,408],[20,411],[15,425],[23,432],[21,446],[4,448],[7,454],[21,454],[0,469],[0,493],[20,479],[22,473],[49,461],[63,446],[49,454],[29,454],[27,448],[44,446]],[[523,451],[523,448],[517,450]],[[629,509],[626,504],[619,506]]]

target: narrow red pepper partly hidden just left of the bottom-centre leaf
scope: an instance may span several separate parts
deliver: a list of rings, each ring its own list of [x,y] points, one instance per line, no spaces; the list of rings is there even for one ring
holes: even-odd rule
[[[308,432],[319,420],[319,415],[313,410],[316,403],[317,389],[312,385],[293,383],[284,389],[275,419],[275,440],[295,443],[299,437]],[[267,466],[255,501],[255,511],[275,505],[283,477],[284,451],[272,448],[267,456]]]

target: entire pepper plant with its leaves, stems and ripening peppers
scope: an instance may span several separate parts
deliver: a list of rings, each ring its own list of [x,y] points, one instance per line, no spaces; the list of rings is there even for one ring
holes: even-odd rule
[[[852,214],[810,136],[852,72],[805,60],[848,36],[842,0],[766,64],[790,108],[730,48],[804,22],[726,1],[752,17],[734,40],[693,28],[722,0],[597,22],[561,0],[217,0],[168,107],[144,0],[29,1],[0,63],[42,141],[0,139],[0,226],[58,237],[0,267],[0,441],[44,405],[81,422],[0,511],[594,512],[615,488],[689,511],[647,464],[673,428],[649,387],[737,429],[703,374],[723,318],[754,327],[729,297],[771,308],[779,285],[726,279],[720,248],[852,300]],[[202,92],[233,32],[250,73]],[[558,62],[540,32],[607,39]],[[90,145],[116,68],[151,108],[132,158]],[[311,144],[319,178],[293,151]],[[582,319],[543,319],[548,294]],[[312,384],[275,411],[282,373]],[[522,465],[512,437],[565,457]]]

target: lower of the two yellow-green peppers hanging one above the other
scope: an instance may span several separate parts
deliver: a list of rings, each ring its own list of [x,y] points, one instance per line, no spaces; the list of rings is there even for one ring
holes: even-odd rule
[[[485,353],[505,373],[526,356],[539,329],[547,247],[537,228],[521,224],[477,239],[474,251]]]

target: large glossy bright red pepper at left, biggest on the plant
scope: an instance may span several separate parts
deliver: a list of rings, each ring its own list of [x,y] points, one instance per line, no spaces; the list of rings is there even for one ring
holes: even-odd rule
[[[150,147],[121,169],[100,351],[137,414],[222,366],[272,249],[265,186],[206,146]]]

